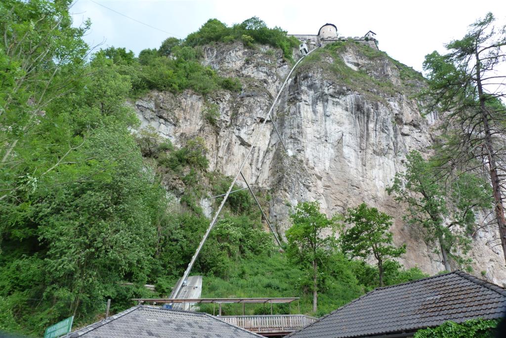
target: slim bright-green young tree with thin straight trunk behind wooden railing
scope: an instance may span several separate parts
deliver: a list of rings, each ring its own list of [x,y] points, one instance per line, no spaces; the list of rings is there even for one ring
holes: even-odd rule
[[[318,306],[319,267],[325,265],[336,249],[335,217],[327,218],[320,212],[319,202],[299,203],[290,214],[293,226],[286,231],[289,259],[300,265],[312,276],[313,312]],[[331,235],[325,236],[330,231]]]

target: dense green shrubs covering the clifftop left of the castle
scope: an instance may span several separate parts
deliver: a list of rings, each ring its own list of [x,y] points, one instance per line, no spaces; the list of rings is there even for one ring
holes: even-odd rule
[[[267,44],[278,47],[283,56],[291,60],[292,49],[298,46],[298,40],[288,37],[279,27],[267,28],[265,23],[254,17],[241,24],[228,27],[217,19],[208,20],[200,29],[189,34],[184,42],[169,37],[158,50],[145,49],[136,60],[123,49],[108,49],[107,55],[114,62],[132,67],[133,95],[138,96],[147,89],[178,93],[193,89],[207,95],[219,89],[239,92],[241,83],[237,79],[222,78],[211,67],[200,62],[203,51],[199,46],[212,42],[230,43],[240,40],[246,47],[254,44]],[[108,56],[109,57],[109,56]]]

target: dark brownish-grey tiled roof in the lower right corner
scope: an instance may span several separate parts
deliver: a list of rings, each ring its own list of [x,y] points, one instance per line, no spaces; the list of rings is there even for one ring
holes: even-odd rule
[[[366,337],[504,315],[506,289],[454,271],[374,289],[289,336]]]

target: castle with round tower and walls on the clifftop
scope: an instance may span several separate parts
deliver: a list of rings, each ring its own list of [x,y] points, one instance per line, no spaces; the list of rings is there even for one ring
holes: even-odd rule
[[[290,36],[297,37],[301,41],[300,49],[303,54],[307,54],[312,49],[318,46],[325,46],[336,41],[353,40],[361,44],[367,45],[376,50],[378,49],[376,33],[369,30],[364,36],[339,36],[338,27],[334,24],[326,23],[318,29],[318,34],[289,34]]]

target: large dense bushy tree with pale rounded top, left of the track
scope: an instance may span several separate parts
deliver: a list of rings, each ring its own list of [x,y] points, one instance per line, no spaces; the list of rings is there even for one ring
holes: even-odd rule
[[[88,158],[97,159],[86,166],[101,170],[95,180],[38,191],[33,217],[47,247],[45,293],[58,298],[65,290],[68,315],[93,313],[93,296],[111,294],[124,279],[145,282],[149,273],[156,238],[151,224],[163,195],[143,173],[135,141],[125,135],[100,129],[83,146]],[[75,174],[76,168],[64,169],[58,176]]]

